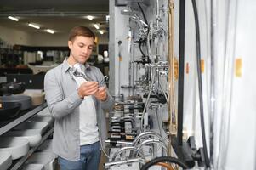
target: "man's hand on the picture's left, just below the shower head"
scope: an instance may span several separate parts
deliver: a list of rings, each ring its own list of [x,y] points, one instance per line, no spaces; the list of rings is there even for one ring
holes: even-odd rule
[[[98,89],[98,82],[83,82],[78,88],[78,95],[80,98],[84,98],[85,96],[95,94],[98,92]]]

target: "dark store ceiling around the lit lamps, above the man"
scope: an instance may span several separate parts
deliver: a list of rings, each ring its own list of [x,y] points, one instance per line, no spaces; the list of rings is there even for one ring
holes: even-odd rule
[[[100,30],[107,31],[105,15],[108,11],[108,0],[1,0],[0,26],[28,33],[44,32],[45,29],[66,33],[73,26],[88,26],[97,32],[93,26],[96,23]],[[9,15],[19,21],[9,20]],[[87,15],[94,16],[94,20],[88,20]],[[28,23],[41,28],[31,28]]]

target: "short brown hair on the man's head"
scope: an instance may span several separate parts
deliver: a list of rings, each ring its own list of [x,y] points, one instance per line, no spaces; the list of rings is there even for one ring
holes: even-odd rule
[[[88,27],[85,26],[76,26],[71,29],[69,41],[73,41],[75,37],[77,36],[83,36],[83,37],[93,37],[95,40],[95,34],[93,31],[91,31]]]

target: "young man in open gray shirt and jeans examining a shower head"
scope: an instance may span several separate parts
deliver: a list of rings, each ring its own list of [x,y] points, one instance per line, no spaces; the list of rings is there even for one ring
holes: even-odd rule
[[[45,96],[55,118],[53,150],[61,170],[99,167],[99,140],[106,137],[102,110],[111,110],[114,102],[100,70],[87,63],[94,38],[87,27],[74,27],[68,41],[70,56],[45,75]]]

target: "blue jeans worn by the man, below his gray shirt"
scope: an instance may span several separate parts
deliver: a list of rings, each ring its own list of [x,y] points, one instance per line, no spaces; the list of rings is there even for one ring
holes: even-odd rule
[[[100,142],[80,146],[80,160],[68,161],[58,156],[61,170],[98,170],[100,164]]]

